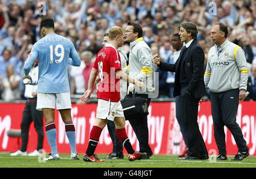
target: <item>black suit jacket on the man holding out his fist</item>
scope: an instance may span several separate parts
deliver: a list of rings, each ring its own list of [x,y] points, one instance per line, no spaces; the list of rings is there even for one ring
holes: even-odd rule
[[[181,49],[180,56],[175,64],[169,64],[160,62],[158,65],[162,71],[175,72],[175,83],[174,83],[174,96],[180,95],[180,57],[184,51]],[[195,98],[206,95],[205,84],[204,84],[204,51],[196,40],[193,40],[189,45],[185,54],[185,74],[189,80],[187,91]]]

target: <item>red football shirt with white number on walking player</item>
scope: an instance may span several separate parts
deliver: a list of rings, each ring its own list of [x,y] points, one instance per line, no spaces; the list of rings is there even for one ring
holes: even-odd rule
[[[106,47],[97,53],[93,67],[98,70],[98,78],[100,78],[97,98],[118,102],[120,100],[120,80],[116,78],[115,71],[122,70],[122,67],[117,50],[111,44],[106,44]]]

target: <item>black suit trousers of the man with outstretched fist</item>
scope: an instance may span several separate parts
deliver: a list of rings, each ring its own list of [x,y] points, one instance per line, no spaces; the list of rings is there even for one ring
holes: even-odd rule
[[[181,111],[183,114],[182,118],[185,121],[185,133],[188,139],[188,156],[203,157],[204,155],[208,155],[208,151],[197,123],[200,98],[195,99],[193,95],[188,95],[185,90],[186,88],[181,89]]]

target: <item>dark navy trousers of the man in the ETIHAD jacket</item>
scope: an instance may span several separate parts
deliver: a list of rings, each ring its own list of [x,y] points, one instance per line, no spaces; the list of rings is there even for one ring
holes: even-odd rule
[[[224,126],[228,127],[232,133],[238,150],[242,152],[248,151],[240,126],[236,122],[239,90],[229,90],[221,93],[210,92],[210,103],[212,105],[214,137],[219,154],[226,154]]]

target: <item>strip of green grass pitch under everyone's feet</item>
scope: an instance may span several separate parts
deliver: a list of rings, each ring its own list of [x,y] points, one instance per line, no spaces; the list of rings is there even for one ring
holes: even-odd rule
[[[100,159],[107,155],[99,155]],[[60,154],[61,160],[46,161],[39,163],[38,157],[28,156],[10,156],[7,153],[0,153],[1,168],[204,168],[204,167],[220,167],[220,168],[256,168],[256,157],[249,156],[242,161],[232,161],[233,156],[228,156],[226,161],[209,162],[209,160],[179,160],[174,155],[153,155],[147,160],[129,161],[127,155],[125,159],[105,160],[101,163],[90,163],[82,160],[82,154],[79,155],[80,160],[70,160],[70,155]]]

